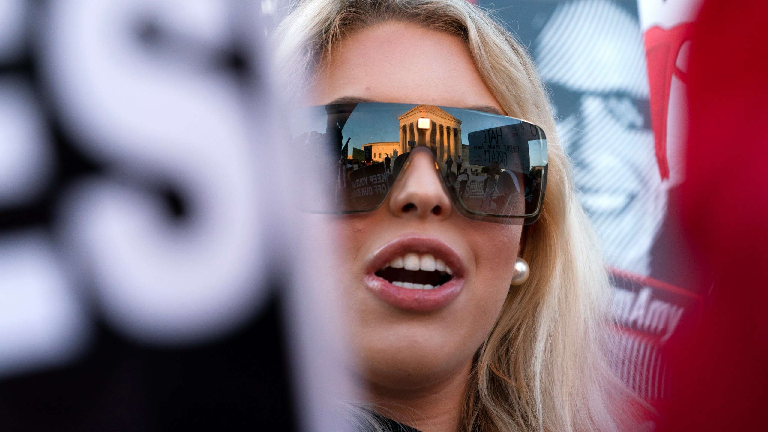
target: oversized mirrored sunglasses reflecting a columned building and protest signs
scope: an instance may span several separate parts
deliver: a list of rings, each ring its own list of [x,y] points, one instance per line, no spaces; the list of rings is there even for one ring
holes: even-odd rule
[[[485,111],[435,105],[349,103],[300,108],[290,121],[296,148],[323,148],[330,199],[308,211],[359,213],[379,207],[413,151],[429,149],[445,191],[467,218],[532,224],[547,184],[547,138],[537,125]]]

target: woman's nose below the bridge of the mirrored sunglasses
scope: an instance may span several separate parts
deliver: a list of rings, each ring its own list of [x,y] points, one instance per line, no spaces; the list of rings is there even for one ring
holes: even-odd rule
[[[389,211],[397,218],[441,221],[449,218],[453,206],[438,172],[435,159],[426,148],[415,148],[392,188]]]

